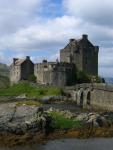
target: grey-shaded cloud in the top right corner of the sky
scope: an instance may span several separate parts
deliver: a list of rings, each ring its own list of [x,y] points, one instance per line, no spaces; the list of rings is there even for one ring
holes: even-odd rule
[[[64,0],[63,4],[67,13],[82,18],[85,22],[113,25],[112,0]]]

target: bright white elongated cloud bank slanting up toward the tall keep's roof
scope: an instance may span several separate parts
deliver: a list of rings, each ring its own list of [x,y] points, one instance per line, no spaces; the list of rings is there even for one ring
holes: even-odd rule
[[[75,33],[77,35],[80,24],[79,19],[75,20],[69,16],[37,22],[35,25],[21,28],[13,34],[3,36],[0,39],[0,49],[13,49],[15,51],[57,49],[69,37],[71,38]]]

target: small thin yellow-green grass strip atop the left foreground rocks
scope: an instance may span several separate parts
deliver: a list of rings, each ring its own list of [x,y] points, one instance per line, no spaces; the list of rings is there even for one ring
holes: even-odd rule
[[[42,104],[40,102],[37,101],[33,101],[33,100],[28,100],[28,101],[24,101],[24,102],[17,102],[16,106],[22,106],[22,105],[28,105],[28,106],[41,106]]]

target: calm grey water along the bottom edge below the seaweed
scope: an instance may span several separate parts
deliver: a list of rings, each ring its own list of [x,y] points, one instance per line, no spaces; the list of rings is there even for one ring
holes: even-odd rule
[[[27,145],[0,150],[113,150],[113,138],[110,139],[64,139],[49,141],[45,145]]]

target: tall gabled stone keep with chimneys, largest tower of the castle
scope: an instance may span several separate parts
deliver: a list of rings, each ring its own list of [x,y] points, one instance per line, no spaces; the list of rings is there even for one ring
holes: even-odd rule
[[[79,40],[70,39],[69,44],[60,50],[60,61],[73,63],[78,70],[88,74],[98,75],[98,51],[87,35],[82,35]]]

